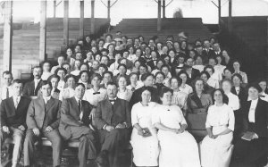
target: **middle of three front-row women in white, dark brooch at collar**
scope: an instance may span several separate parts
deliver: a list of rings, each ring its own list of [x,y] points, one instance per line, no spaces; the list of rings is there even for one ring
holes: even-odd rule
[[[162,104],[157,106],[152,122],[158,130],[161,147],[159,167],[200,167],[195,138],[188,133],[187,122],[178,105],[172,105],[172,89],[163,88]]]

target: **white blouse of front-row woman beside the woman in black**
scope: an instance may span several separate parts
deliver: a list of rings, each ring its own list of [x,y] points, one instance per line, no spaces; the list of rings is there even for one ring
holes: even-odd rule
[[[211,105],[208,108],[205,128],[226,126],[230,130],[234,130],[235,118],[233,110],[229,105],[222,106]]]

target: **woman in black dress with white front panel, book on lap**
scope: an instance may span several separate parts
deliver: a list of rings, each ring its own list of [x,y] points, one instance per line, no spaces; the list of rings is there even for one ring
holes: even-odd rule
[[[237,166],[265,166],[268,152],[268,103],[259,98],[262,91],[257,84],[248,86],[247,101],[242,106],[243,128],[234,147]],[[235,163],[235,162],[234,162]]]

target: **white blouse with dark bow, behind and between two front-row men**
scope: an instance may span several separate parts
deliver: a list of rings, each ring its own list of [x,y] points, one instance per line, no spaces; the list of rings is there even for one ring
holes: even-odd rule
[[[105,88],[100,88],[98,92],[95,92],[93,88],[90,88],[86,90],[83,100],[86,100],[89,104],[96,106],[98,102],[105,100],[106,96],[107,92]]]

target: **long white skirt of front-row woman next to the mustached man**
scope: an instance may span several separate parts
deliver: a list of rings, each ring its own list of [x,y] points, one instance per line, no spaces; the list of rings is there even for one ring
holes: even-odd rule
[[[136,166],[158,166],[159,145],[156,134],[152,129],[151,137],[144,138],[133,129],[130,144],[133,147],[133,162]]]

